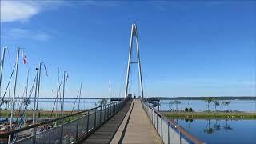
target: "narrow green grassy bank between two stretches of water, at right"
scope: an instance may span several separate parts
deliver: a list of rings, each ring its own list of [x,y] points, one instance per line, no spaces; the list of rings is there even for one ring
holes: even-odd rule
[[[161,112],[168,118],[198,119],[256,119],[256,113],[247,112]]]

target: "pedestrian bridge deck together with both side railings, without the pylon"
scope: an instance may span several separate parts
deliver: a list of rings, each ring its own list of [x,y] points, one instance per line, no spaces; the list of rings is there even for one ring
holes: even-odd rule
[[[42,132],[40,126],[57,123]],[[30,136],[22,135],[32,133]],[[142,99],[126,98],[13,130],[12,143],[203,143]],[[15,137],[14,137],[15,136]]]

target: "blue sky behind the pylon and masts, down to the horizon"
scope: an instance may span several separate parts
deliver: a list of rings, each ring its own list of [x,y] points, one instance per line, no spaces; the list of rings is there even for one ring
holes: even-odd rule
[[[10,52],[3,87],[21,46],[29,66],[21,62],[19,95],[28,67],[31,84],[45,62],[41,96],[54,95],[60,67],[70,74],[69,97],[81,81],[83,97],[107,97],[109,79],[113,95],[122,97],[136,23],[146,97],[256,95],[255,14],[256,2],[1,1],[1,49]]]

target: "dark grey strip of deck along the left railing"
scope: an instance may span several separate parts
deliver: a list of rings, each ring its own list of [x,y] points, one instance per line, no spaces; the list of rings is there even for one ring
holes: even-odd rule
[[[123,119],[126,117],[127,112],[130,110],[132,100],[126,102],[126,106],[122,108],[113,118],[110,118],[103,126],[91,134],[89,138],[84,139],[82,143],[110,143],[114,134],[117,132],[119,126],[122,124]]]

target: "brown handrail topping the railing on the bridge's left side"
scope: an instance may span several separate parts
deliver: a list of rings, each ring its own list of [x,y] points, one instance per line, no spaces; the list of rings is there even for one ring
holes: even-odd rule
[[[109,106],[109,105],[113,105],[115,103],[118,103],[118,102],[112,102],[112,103],[109,103],[109,104],[106,104],[106,105],[103,105],[103,106]],[[98,108],[101,108],[103,106],[97,106],[97,107],[94,107],[94,108],[90,108],[88,110],[82,110],[82,111],[79,111],[78,113],[66,115],[66,116],[63,116],[63,117],[60,117],[60,118],[54,118],[54,119],[48,120],[46,122],[40,122],[40,123],[35,123],[35,124],[29,125],[29,126],[24,126],[24,127],[20,128],[20,129],[17,129],[17,130],[11,130],[11,131],[4,132],[4,133],[1,134],[1,136],[5,137],[5,136],[8,136],[10,134],[15,134],[15,133],[18,133],[18,132],[21,132],[21,131],[24,131],[24,130],[29,130],[29,129],[34,128],[34,127],[42,126],[42,125],[45,125],[45,124],[48,124],[48,123],[51,123],[51,122],[56,122],[58,120],[69,118],[69,117],[72,117],[74,115],[86,113],[86,112],[89,112],[90,110],[95,110],[95,109],[97,110]]]

